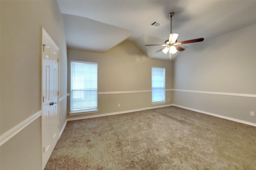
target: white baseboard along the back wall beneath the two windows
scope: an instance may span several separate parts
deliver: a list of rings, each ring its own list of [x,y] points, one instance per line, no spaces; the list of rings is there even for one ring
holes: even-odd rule
[[[73,117],[73,118],[68,118],[67,121],[81,120],[81,119],[90,119],[90,118],[103,117],[103,116],[109,116],[109,115],[118,115],[118,114],[122,114],[122,113],[130,113],[130,112],[134,112],[134,111],[142,111],[142,110],[155,109],[155,108],[168,107],[168,106],[172,106],[172,104],[153,106],[153,107],[145,107],[145,108],[141,108],[141,109],[117,111],[117,112],[104,113],[104,114],[99,114],[99,115],[89,115],[89,116],[82,116],[82,117]]]

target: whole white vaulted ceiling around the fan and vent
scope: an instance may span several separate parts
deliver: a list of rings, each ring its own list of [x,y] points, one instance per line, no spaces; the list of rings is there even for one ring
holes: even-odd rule
[[[256,23],[255,0],[58,0],[58,4],[68,47],[105,52],[128,40],[158,59],[169,57],[154,53],[161,46],[145,45],[164,44],[169,38],[170,12],[175,12],[172,32],[179,33],[178,41],[209,39]],[[163,25],[153,27],[154,20]]]

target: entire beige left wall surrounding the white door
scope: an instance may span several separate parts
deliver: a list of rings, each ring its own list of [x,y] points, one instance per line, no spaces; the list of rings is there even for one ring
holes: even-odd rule
[[[41,110],[42,27],[60,48],[60,97],[67,92],[67,59],[62,14],[55,0],[1,0],[0,6],[0,133],[3,134]],[[60,103],[60,128],[66,121],[65,101]],[[0,169],[38,170],[41,154],[39,117],[1,146]]]

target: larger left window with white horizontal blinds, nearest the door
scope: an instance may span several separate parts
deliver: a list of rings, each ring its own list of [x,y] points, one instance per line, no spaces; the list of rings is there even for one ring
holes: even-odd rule
[[[70,113],[98,110],[98,63],[71,61]]]

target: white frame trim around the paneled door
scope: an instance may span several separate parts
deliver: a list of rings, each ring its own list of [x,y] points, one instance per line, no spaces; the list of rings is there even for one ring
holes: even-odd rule
[[[57,54],[57,56],[58,56],[58,64],[57,64],[57,66],[58,66],[58,86],[57,86],[57,93],[58,93],[58,95],[57,95],[57,102],[58,102],[58,111],[57,111],[57,117],[58,117],[58,136],[57,136],[57,138],[59,139],[59,133],[60,133],[60,113],[59,113],[59,110],[60,110],[60,106],[59,106],[59,100],[60,100],[60,96],[59,96],[59,89],[60,89],[60,64],[59,64],[59,59],[60,59],[60,49],[59,49],[59,47],[54,43],[54,41],[52,40],[52,38],[50,37],[50,35],[48,35],[48,33],[45,31],[45,29],[42,27],[42,41],[43,41],[43,37],[46,37],[47,39],[48,39],[48,41],[50,41],[50,43],[54,46],[54,48],[58,51],[58,54]],[[43,48],[44,48],[44,45],[43,45],[43,42],[41,43],[41,48],[42,48],[42,52],[41,52],[41,61],[42,61],[42,64],[43,64]],[[41,68],[41,72],[42,72],[42,79],[43,79],[43,68]],[[42,83],[43,83],[43,80],[42,80],[42,82],[41,82],[41,89],[42,89]],[[43,96],[44,96],[44,94],[43,94],[43,90],[41,90],[42,92],[41,92],[41,109],[42,109],[42,107],[43,107]],[[42,109],[43,110],[43,109]],[[42,128],[42,127],[41,127]],[[43,143],[43,139],[41,139],[42,140],[42,143]],[[41,148],[43,148],[43,145],[41,146]],[[43,155],[43,151],[42,151],[42,155]],[[42,158],[43,158],[43,156],[42,156]],[[44,170],[44,165],[42,164],[42,170]]]

